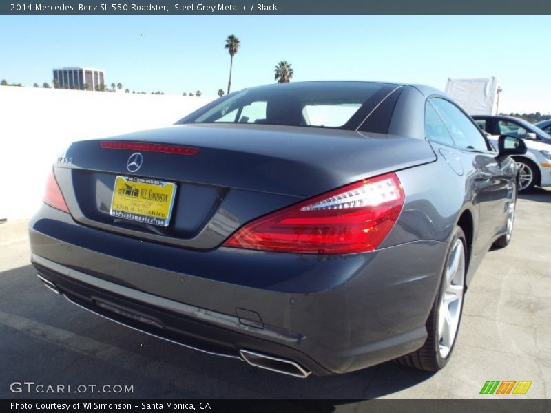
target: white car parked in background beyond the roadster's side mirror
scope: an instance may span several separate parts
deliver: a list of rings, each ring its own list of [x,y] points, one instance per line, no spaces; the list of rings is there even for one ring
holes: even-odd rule
[[[551,136],[526,120],[512,116],[473,115],[472,118],[495,147],[499,135],[516,136],[526,143],[526,154],[512,157],[520,169],[519,192],[536,186],[551,187]]]

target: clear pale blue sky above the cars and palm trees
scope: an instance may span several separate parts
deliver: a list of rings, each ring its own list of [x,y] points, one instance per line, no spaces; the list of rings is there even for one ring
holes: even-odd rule
[[[232,89],[272,83],[287,60],[294,81],[424,83],[499,78],[500,112],[551,112],[549,18],[461,16],[0,17],[0,78],[32,86],[52,69],[100,67],[107,84],[214,96],[227,88],[229,34],[241,41]]]

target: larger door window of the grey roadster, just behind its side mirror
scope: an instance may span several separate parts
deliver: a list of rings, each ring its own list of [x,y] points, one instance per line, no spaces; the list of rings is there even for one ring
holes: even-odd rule
[[[484,140],[480,129],[457,106],[448,102],[448,100],[439,98],[430,101],[444,119],[456,147],[488,151],[488,145],[486,145],[486,140]]]

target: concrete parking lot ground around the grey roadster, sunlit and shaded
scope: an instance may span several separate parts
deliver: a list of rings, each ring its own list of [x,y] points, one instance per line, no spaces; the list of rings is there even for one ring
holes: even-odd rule
[[[523,397],[549,398],[551,191],[520,198],[512,243],[490,251],[479,268],[453,358],[436,374],[388,362],[295,379],[149,337],[42,286],[29,264],[26,222],[0,224],[0,397],[487,398],[479,396],[487,380],[528,380]],[[133,392],[12,393],[14,381],[132,385]],[[366,402],[337,410],[357,403]]]

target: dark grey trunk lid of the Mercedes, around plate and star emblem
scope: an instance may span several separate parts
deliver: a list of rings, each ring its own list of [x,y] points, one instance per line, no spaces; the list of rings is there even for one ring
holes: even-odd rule
[[[106,231],[209,249],[260,215],[344,184],[435,160],[424,140],[356,131],[273,125],[175,125],[109,141],[198,148],[193,156],[104,149],[102,140],[74,142],[70,164],[55,173],[75,220]],[[105,141],[105,140],[103,140]],[[140,169],[127,163],[140,152]],[[116,176],[176,184],[169,225],[110,215]]]

